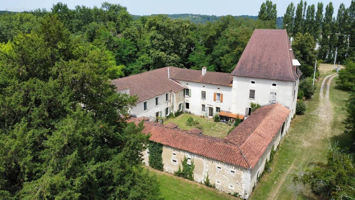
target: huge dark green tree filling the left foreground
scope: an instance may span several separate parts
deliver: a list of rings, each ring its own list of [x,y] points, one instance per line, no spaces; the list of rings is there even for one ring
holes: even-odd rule
[[[110,53],[72,39],[47,14],[35,31],[0,44],[2,197],[156,197],[142,168],[149,136],[120,117],[136,98],[111,85]]]

